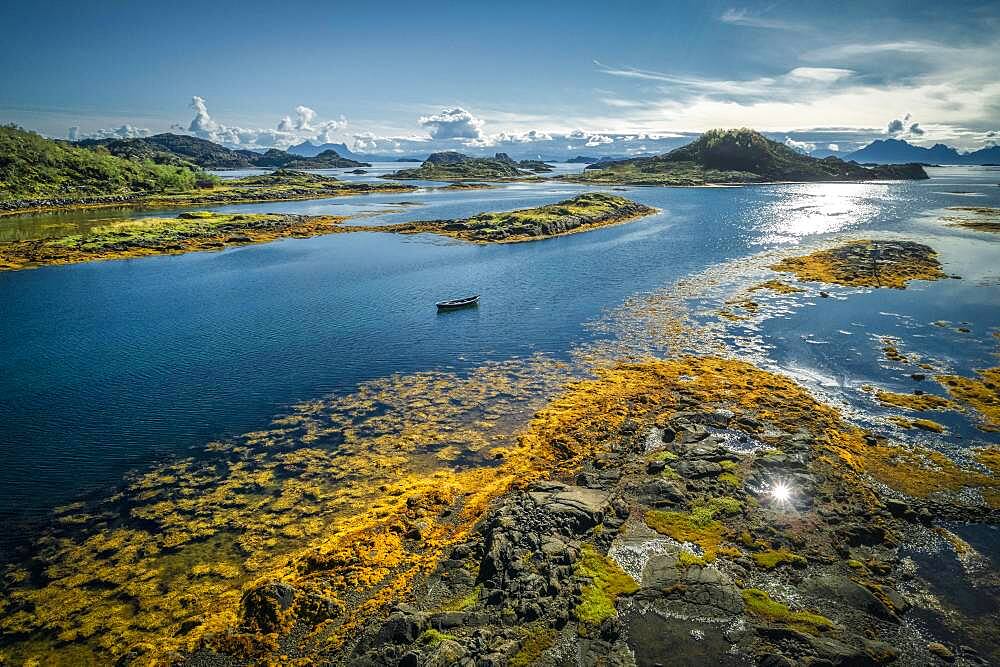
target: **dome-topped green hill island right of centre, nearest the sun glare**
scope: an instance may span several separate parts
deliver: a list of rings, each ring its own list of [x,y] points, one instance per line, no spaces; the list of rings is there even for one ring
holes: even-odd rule
[[[771,181],[924,179],[917,164],[863,167],[836,157],[817,159],[754,130],[709,130],[663,155],[593,164],[573,180],[634,185],[702,185]]]

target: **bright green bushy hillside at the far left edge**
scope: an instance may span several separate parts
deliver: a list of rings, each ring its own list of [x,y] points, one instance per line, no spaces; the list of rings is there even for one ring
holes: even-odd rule
[[[188,163],[130,160],[0,127],[0,201],[188,192],[215,180]]]

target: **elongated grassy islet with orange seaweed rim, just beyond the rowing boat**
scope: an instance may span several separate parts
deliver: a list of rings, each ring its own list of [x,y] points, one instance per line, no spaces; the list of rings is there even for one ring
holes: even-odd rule
[[[604,193],[578,195],[556,204],[464,220],[408,222],[372,228],[403,234],[433,232],[474,243],[518,243],[585,232],[656,213],[655,208]]]

